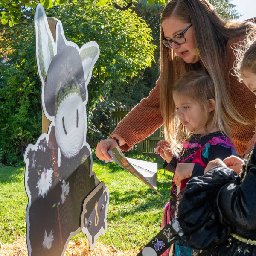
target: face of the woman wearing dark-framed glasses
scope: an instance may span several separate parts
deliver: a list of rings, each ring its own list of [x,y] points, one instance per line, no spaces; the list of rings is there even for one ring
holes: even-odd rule
[[[162,22],[165,39],[171,40],[175,35],[182,33],[189,25],[190,23],[184,23],[182,20],[175,17],[166,18]],[[199,51],[195,45],[193,26],[185,32],[184,36],[186,42],[180,45],[172,42],[172,49],[178,56],[183,58],[186,63],[196,63],[200,60],[200,57],[198,55]]]

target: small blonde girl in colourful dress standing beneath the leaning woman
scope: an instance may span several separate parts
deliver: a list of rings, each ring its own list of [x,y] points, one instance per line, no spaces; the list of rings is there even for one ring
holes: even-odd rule
[[[182,76],[174,85],[173,100],[175,113],[172,113],[171,120],[172,128],[176,130],[172,133],[173,143],[161,140],[157,143],[156,153],[165,160],[164,168],[174,172],[172,190],[177,195],[173,183],[177,186],[181,183],[182,190],[188,178],[204,175],[209,161],[216,158],[223,160],[236,154],[236,151],[229,139],[220,99],[216,104],[214,86],[205,71],[191,71]],[[170,221],[169,208],[168,203],[162,227]],[[193,250],[175,246],[175,252],[176,256],[181,253],[186,256],[192,255]]]

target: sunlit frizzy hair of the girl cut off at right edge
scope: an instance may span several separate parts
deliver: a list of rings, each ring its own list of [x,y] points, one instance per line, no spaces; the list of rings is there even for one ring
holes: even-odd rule
[[[256,74],[256,32],[249,32],[241,45],[234,48],[236,61],[233,70],[242,82],[241,75],[247,70]]]

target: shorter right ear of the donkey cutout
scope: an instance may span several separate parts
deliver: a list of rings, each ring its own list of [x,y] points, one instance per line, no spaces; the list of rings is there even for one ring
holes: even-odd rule
[[[80,49],[80,58],[84,70],[84,81],[87,86],[92,76],[93,66],[99,58],[99,45],[94,41],[84,44]]]

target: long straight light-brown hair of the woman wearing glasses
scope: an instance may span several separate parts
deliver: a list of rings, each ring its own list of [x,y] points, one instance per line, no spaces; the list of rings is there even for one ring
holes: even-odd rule
[[[230,100],[230,85],[226,80],[228,74],[224,73],[224,68],[227,69],[228,67],[226,49],[228,39],[245,36],[246,29],[253,30],[256,26],[249,22],[233,22],[221,19],[214,7],[206,0],[171,0],[163,10],[161,23],[171,16],[184,23],[192,24],[197,47],[196,52],[212,78],[216,111],[221,113],[221,109],[224,109],[229,114],[227,120],[229,124],[233,121],[248,124],[250,121],[245,120],[239,114]],[[161,41],[165,39],[162,28],[160,37]],[[160,44],[160,108],[163,116],[164,134],[166,140],[170,142],[173,131],[172,113],[174,112],[173,84],[182,74],[201,68],[199,62],[186,63],[172,49]],[[221,115],[215,115],[213,122],[221,123]]]

